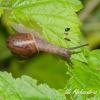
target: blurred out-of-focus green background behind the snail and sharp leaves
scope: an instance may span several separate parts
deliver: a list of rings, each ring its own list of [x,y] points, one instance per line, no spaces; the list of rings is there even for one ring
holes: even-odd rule
[[[100,0],[81,0],[84,8],[78,13],[82,26],[80,30],[81,44],[89,43],[89,49],[100,48]],[[6,38],[12,33],[7,26],[9,11],[5,11],[0,18],[0,70],[12,73],[17,78],[28,75],[46,83],[50,87],[64,88],[67,67],[64,61],[54,58],[51,54],[41,52],[34,58],[26,61],[17,60],[6,47]]]

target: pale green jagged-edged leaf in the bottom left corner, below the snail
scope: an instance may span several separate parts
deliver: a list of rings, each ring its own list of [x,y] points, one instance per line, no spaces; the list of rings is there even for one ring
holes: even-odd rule
[[[66,100],[65,96],[46,84],[28,76],[13,79],[11,74],[0,72],[0,97],[3,100]]]

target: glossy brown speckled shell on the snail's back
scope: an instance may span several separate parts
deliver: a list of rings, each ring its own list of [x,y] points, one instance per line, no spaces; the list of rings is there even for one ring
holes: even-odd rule
[[[6,45],[19,59],[33,57],[39,52],[35,38],[30,33],[13,34],[7,38]]]

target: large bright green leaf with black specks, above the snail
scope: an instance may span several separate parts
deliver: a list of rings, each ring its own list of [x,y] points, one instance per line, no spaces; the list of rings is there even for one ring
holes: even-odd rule
[[[66,48],[79,45],[81,22],[76,12],[82,8],[80,1],[12,0],[12,8],[11,21],[35,29],[49,42]],[[65,28],[70,28],[68,36]],[[65,41],[65,37],[71,41]],[[72,58],[87,62],[82,53]]]

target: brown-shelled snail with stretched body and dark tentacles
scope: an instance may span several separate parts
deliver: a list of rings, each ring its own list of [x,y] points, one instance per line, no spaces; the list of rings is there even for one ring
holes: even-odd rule
[[[23,25],[19,25],[12,22],[11,26],[19,33],[10,35],[7,38],[6,45],[8,49],[12,52],[12,54],[22,60],[33,57],[40,51],[44,51],[64,56],[66,57],[69,64],[73,65],[70,60],[70,56],[72,54],[71,50],[88,45],[85,44],[72,48],[63,48],[49,43],[38,33],[26,28]]]

